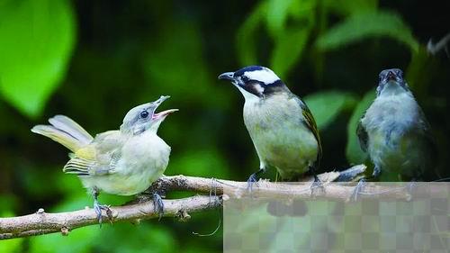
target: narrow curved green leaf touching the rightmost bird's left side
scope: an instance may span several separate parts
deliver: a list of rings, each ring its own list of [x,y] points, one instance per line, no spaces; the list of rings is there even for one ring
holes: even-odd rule
[[[370,104],[374,102],[375,91],[374,89],[370,90],[365,94],[363,99],[356,105],[355,111],[350,118],[350,121],[347,125],[347,148],[346,155],[347,160],[351,164],[359,164],[363,163],[367,158],[365,152],[359,146],[359,140],[356,136],[356,127],[358,125],[361,116],[365,113],[365,110],[369,108]]]

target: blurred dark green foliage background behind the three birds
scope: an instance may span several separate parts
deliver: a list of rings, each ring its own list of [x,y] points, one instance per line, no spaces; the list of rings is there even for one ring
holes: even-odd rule
[[[164,106],[180,109],[160,129],[173,150],[167,175],[245,180],[258,161],[242,122],[243,99],[216,79],[245,65],[273,68],[309,104],[323,141],[322,171],[365,161],[356,122],[383,68],[406,71],[445,154],[449,59],[445,51],[433,56],[425,49],[429,39],[449,32],[441,5],[0,0],[0,214],[92,204],[77,178],[60,171],[67,151],[31,135],[32,125],[63,113],[92,133],[117,129],[132,106],[159,95],[171,95]],[[211,232],[219,217],[215,211],[193,214],[187,223],[93,226],[68,237],[1,241],[0,252],[220,251],[221,232],[192,234]]]

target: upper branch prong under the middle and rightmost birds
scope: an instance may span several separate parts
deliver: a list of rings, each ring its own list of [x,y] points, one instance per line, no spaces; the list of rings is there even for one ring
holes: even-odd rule
[[[250,193],[252,197],[277,198],[277,199],[303,199],[324,197],[327,200],[348,202],[350,196],[355,191],[356,181],[365,172],[365,165],[357,165],[347,168],[341,172],[326,172],[318,175],[323,183],[324,191],[311,195],[311,184],[313,177],[305,177],[302,182],[273,183],[267,180],[260,180]],[[342,183],[334,183],[339,182]],[[333,184],[329,184],[333,182]],[[347,185],[346,185],[347,184]],[[215,178],[203,178],[194,176],[163,176],[153,185],[156,191],[193,191],[209,194],[224,194],[225,199],[243,198],[249,196],[247,182],[236,182]],[[406,193],[404,187],[398,189],[395,185],[382,186],[367,183],[361,198],[382,198],[384,200],[408,200],[410,194]]]

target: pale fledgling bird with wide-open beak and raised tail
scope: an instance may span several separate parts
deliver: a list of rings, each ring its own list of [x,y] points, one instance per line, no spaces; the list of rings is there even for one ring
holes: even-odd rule
[[[157,136],[161,122],[178,109],[156,113],[169,96],[132,108],[119,130],[105,131],[93,137],[78,123],[64,115],[49,118],[49,125],[36,125],[31,131],[55,140],[71,151],[63,172],[79,177],[94,197],[94,211],[102,224],[102,210],[111,214],[108,205],[98,202],[100,192],[134,195],[148,189],[166,170],[171,148]],[[157,212],[164,212],[159,194],[153,194]],[[110,217],[111,219],[111,217]]]

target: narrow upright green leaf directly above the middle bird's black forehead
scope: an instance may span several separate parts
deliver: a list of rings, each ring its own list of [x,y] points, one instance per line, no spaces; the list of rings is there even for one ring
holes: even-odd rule
[[[266,9],[266,2],[261,2],[238,30],[236,37],[238,59],[244,66],[255,65],[257,62],[257,29],[266,14]]]

